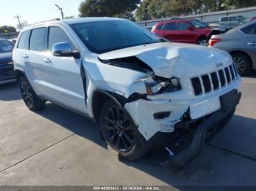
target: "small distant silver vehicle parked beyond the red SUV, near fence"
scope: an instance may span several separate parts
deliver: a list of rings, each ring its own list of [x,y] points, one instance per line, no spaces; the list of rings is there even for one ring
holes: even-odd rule
[[[241,26],[244,23],[248,22],[248,19],[244,16],[225,16],[219,18],[219,24],[221,26],[227,26],[230,28],[235,28],[237,26]]]

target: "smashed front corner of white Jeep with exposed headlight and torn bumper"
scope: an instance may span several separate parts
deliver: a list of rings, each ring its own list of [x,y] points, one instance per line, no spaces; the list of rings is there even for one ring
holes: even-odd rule
[[[130,114],[139,132],[148,141],[157,132],[173,132],[174,125],[181,115],[187,111],[188,106],[174,105],[169,99],[154,99],[157,95],[174,93],[181,90],[181,84],[176,77],[159,77],[153,69],[137,57],[102,60],[102,63],[132,69],[145,73],[129,85],[129,97],[124,109]],[[140,92],[135,92],[135,87],[143,85]],[[138,88],[137,88],[138,89]],[[171,110],[170,110],[171,108]]]

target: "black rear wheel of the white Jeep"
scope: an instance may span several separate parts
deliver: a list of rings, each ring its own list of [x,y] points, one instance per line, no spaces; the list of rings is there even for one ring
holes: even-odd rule
[[[20,77],[19,86],[23,101],[31,111],[42,109],[45,106],[45,100],[38,98],[25,77]]]

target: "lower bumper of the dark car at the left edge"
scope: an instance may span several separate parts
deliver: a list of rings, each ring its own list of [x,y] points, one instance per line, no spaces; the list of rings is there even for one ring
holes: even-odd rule
[[[0,84],[14,82],[15,74],[12,64],[0,64]]]

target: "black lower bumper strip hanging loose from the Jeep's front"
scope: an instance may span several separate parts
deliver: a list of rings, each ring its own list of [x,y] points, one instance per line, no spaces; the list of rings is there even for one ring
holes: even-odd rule
[[[170,158],[164,162],[164,165],[168,164],[174,168],[182,168],[189,163],[200,152],[205,141],[214,137],[230,120],[240,99],[241,93],[238,93],[237,90],[222,95],[220,97],[222,109],[207,116],[197,126],[189,147],[178,154],[173,154],[170,149],[167,149],[170,152]]]

